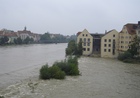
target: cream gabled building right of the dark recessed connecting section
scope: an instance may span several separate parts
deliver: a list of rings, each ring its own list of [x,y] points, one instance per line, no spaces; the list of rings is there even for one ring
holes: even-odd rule
[[[118,57],[118,32],[111,30],[101,38],[101,57]]]

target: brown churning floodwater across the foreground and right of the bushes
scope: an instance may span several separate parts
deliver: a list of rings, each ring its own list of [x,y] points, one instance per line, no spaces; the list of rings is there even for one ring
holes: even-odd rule
[[[46,81],[31,78],[8,86],[0,93],[6,98],[140,98],[140,65],[82,57],[79,68],[81,76]],[[29,73],[34,71],[38,69]],[[23,71],[24,74],[27,73]]]

